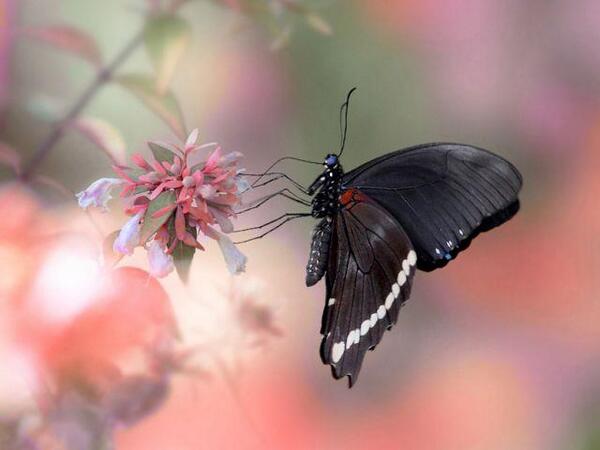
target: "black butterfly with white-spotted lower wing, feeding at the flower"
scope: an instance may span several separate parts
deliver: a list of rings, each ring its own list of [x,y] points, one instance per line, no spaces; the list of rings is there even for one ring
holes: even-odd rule
[[[415,272],[444,267],[479,233],[513,217],[523,181],[502,157],[454,143],[398,150],[344,172],[345,134],[307,190],[320,221],[306,285],[325,277],[321,359],[352,386],[366,352],[396,323]]]

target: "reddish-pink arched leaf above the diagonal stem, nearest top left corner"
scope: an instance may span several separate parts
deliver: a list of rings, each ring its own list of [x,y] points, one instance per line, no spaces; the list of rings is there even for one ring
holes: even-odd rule
[[[72,53],[94,66],[102,65],[102,54],[93,37],[85,31],[68,25],[27,28],[24,33],[34,39]]]

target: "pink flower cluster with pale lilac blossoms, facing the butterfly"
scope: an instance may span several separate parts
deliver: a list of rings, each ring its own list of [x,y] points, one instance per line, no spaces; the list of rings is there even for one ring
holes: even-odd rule
[[[102,178],[77,194],[82,208],[106,209],[111,190],[121,187],[131,218],[113,250],[130,255],[145,246],[154,276],[166,276],[176,267],[185,278],[194,252],[204,250],[200,234],[219,243],[232,274],[245,269],[246,257],[227,236],[233,231],[234,208],[249,189],[238,168],[242,154],[223,154],[217,144],[198,145],[197,140],[194,130],[183,147],[150,142],[151,158],[134,154],[135,167],[113,166],[119,178]]]

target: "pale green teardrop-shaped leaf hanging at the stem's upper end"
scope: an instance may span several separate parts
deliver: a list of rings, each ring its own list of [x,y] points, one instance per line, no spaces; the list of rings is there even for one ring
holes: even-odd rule
[[[191,34],[185,20],[170,14],[151,17],[146,23],[144,43],[156,70],[156,90],[160,94],[167,91]]]

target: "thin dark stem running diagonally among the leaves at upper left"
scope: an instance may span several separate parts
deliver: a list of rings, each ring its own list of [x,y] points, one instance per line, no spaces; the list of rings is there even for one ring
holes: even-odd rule
[[[98,91],[112,79],[115,71],[117,71],[125,61],[127,61],[131,54],[139,47],[142,41],[143,31],[140,31],[127,43],[127,45],[125,45],[125,47],[123,47],[123,49],[108,65],[98,71],[92,83],[81,94],[73,107],[67,112],[62,120],[59,120],[54,125],[48,137],[37,148],[35,154],[21,173],[20,178],[22,181],[26,182],[31,178],[39,165],[46,159],[46,157],[50,154],[50,151],[64,136],[65,131],[71,122],[73,122],[73,120],[75,120],[79,114],[81,114],[85,107],[96,96]]]

